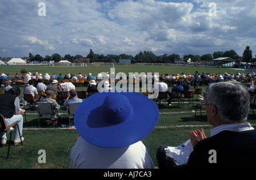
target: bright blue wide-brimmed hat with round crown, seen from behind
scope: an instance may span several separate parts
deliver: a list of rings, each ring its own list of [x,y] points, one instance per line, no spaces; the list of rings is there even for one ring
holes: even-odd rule
[[[89,143],[118,148],[145,138],[158,119],[158,106],[150,98],[138,92],[115,90],[86,98],[76,110],[75,126]]]

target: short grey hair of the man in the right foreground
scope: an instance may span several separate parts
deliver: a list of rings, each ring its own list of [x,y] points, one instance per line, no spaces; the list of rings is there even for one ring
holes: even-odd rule
[[[217,108],[221,119],[227,123],[242,123],[250,109],[250,95],[238,82],[220,82],[210,85],[207,104]]]

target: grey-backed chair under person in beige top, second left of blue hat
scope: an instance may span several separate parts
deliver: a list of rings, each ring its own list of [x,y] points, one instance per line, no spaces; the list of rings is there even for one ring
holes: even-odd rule
[[[51,102],[36,102],[38,105],[38,127],[40,127],[40,117],[43,115],[51,115],[51,120],[55,118],[57,109],[53,109]]]

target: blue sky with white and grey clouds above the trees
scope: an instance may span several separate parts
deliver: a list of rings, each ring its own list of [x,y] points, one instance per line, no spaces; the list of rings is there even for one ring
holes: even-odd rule
[[[43,2],[46,16],[39,16]],[[216,5],[211,16],[209,4]],[[213,12],[213,11],[212,11]],[[256,1],[0,1],[0,57],[86,56],[149,50],[212,54],[247,45],[256,54]]]

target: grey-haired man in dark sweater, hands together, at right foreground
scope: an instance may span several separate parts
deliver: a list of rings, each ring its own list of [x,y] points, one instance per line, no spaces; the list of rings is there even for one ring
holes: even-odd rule
[[[163,145],[156,156],[159,169],[255,168],[251,162],[256,161],[256,131],[246,122],[249,102],[250,95],[240,83],[229,81],[210,85],[205,97],[207,121],[214,127],[210,137],[206,138],[203,129],[190,131],[193,151],[187,164],[178,167],[166,160]]]

